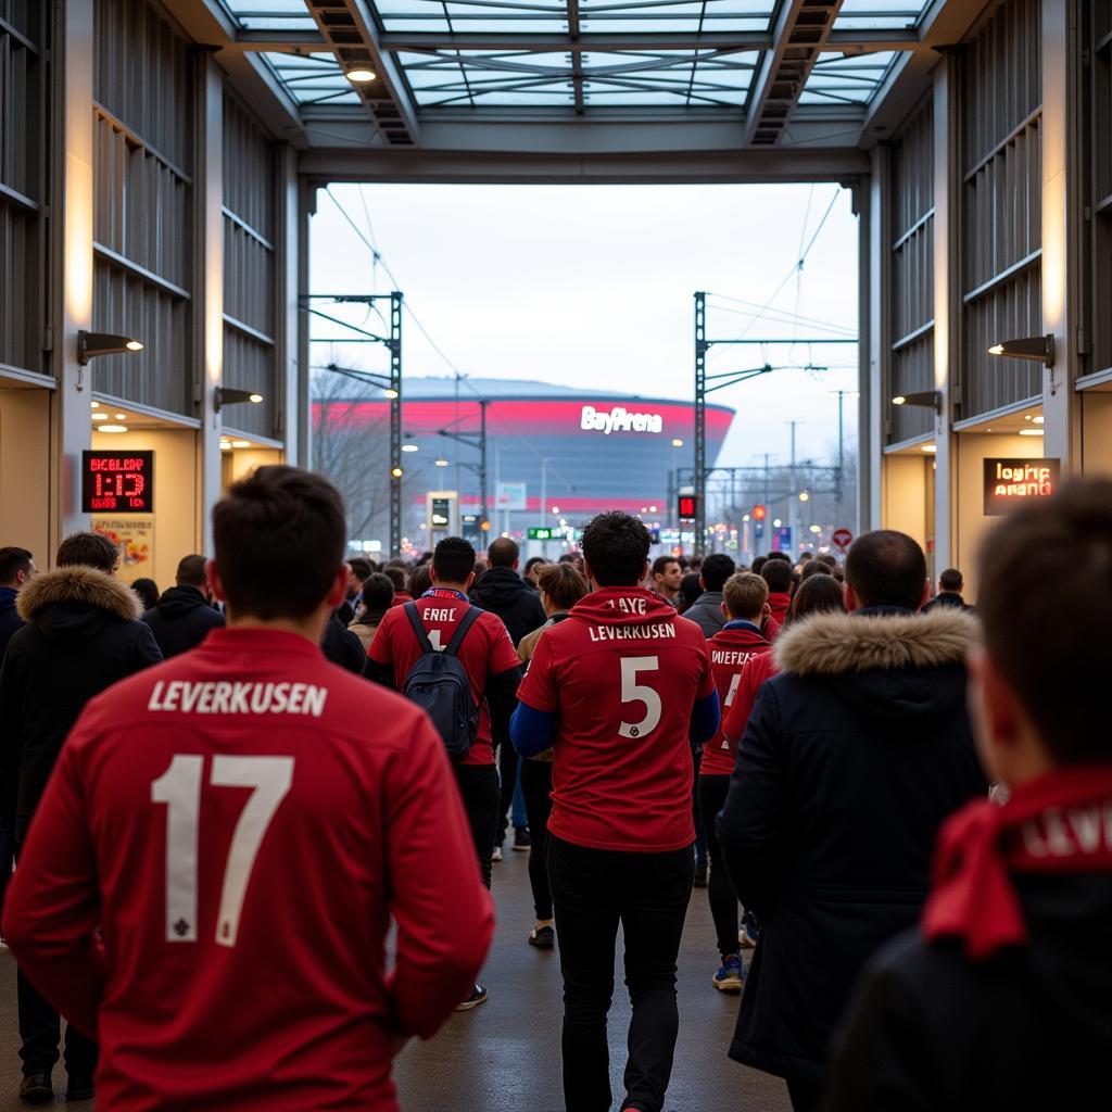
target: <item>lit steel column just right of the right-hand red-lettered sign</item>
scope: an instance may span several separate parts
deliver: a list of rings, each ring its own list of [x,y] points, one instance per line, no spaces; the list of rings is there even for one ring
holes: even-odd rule
[[[1083,321],[1078,274],[1082,211],[1076,151],[1076,23],[1070,0],[1042,0],[1042,330],[1052,332],[1055,365],[1043,373],[1043,451],[1081,470],[1081,404],[1073,384]]]

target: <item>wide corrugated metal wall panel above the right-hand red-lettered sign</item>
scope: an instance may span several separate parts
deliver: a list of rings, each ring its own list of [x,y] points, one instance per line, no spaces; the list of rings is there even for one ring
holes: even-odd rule
[[[962,58],[962,418],[1042,387],[1037,365],[987,354],[1042,334],[1041,98],[1041,0],[1007,0]]]

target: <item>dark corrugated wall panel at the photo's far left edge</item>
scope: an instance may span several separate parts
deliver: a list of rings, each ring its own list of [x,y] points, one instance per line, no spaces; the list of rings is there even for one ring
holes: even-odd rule
[[[44,48],[49,6],[0,0],[0,363],[49,373],[46,327],[48,221],[43,181],[47,141]],[[30,41],[28,46],[19,36]],[[26,199],[26,202],[24,200]]]

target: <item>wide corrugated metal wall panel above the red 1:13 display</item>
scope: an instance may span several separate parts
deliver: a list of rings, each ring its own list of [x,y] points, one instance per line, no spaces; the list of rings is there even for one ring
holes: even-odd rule
[[[98,359],[97,389],[191,416],[190,46],[157,4],[97,0],[93,327],[143,341]]]

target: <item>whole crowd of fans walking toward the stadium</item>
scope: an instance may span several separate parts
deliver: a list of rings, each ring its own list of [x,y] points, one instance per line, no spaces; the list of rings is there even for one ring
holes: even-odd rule
[[[1000,523],[975,610],[893,530],[745,567],[651,560],[613,512],[555,563],[509,537],[345,562],[335,489],[280,466],[231,487],[214,542],[146,598],[97,534],[47,572],[0,549],[27,1101],[52,1099],[63,1016],[70,1099],[396,1109],[406,1041],[487,1000],[508,850],[523,944],[559,955],[567,1112],[663,1112],[702,1036],[692,914],[706,991],[741,997],[729,1056],[797,1112],[1101,1091],[1112,484]]]

